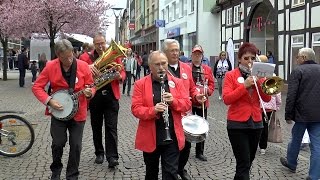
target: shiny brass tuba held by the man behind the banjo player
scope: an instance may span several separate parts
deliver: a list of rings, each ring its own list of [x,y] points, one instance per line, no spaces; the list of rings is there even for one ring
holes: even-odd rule
[[[111,44],[95,62],[94,66],[100,71],[101,75],[95,77],[97,90],[113,81],[119,71],[122,69],[122,64],[114,62],[114,59],[119,57],[126,57],[126,48],[118,45],[114,40],[111,40]]]

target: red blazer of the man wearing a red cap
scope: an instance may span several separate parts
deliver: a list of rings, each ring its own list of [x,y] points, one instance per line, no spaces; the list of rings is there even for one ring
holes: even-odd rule
[[[201,68],[202,68],[202,73],[204,74],[204,79],[208,80],[207,95],[212,96],[214,91],[214,78],[213,78],[211,67],[208,65],[202,64]],[[200,92],[200,89],[197,89],[197,91]],[[192,99],[192,105],[201,106],[201,104],[195,98]],[[209,100],[205,102],[205,106],[206,108],[209,107]]]

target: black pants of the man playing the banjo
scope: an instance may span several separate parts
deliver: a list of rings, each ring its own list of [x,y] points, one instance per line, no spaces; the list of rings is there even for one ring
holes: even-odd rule
[[[67,130],[69,131],[69,159],[67,165],[67,179],[78,179],[79,163],[82,149],[82,135],[85,121],[77,122],[72,120],[59,121],[51,118],[50,133],[52,137],[52,164],[50,169],[52,174],[60,174],[62,170],[61,158],[63,148],[67,142]]]

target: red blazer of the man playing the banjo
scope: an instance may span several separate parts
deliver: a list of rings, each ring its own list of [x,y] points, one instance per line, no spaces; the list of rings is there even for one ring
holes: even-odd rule
[[[85,85],[90,85],[93,83],[93,78],[91,71],[87,63],[77,60],[77,75],[76,84],[74,92],[78,92],[85,88]],[[37,80],[32,86],[32,92],[37,97],[37,99],[44,105],[47,105],[50,100],[49,95],[44,90],[45,86],[50,82],[52,94],[58,90],[68,89],[69,85],[63,78],[60,61],[59,59],[54,59],[48,61],[46,67],[39,74]],[[92,88],[92,96],[95,93],[95,88]],[[46,115],[50,115],[48,109],[46,109]],[[87,98],[82,94],[79,96],[79,110],[74,116],[76,121],[85,121],[87,118]]]

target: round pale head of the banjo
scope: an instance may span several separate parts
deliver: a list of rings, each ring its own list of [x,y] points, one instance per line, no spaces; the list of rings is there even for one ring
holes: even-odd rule
[[[68,91],[59,91],[52,95],[52,99],[58,101],[63,107],[62,111],[51,109],[51,114],[55,118],[59,120],[63,120],[64,118],[68,117],[72,113],[74,108],[74,103]]]

